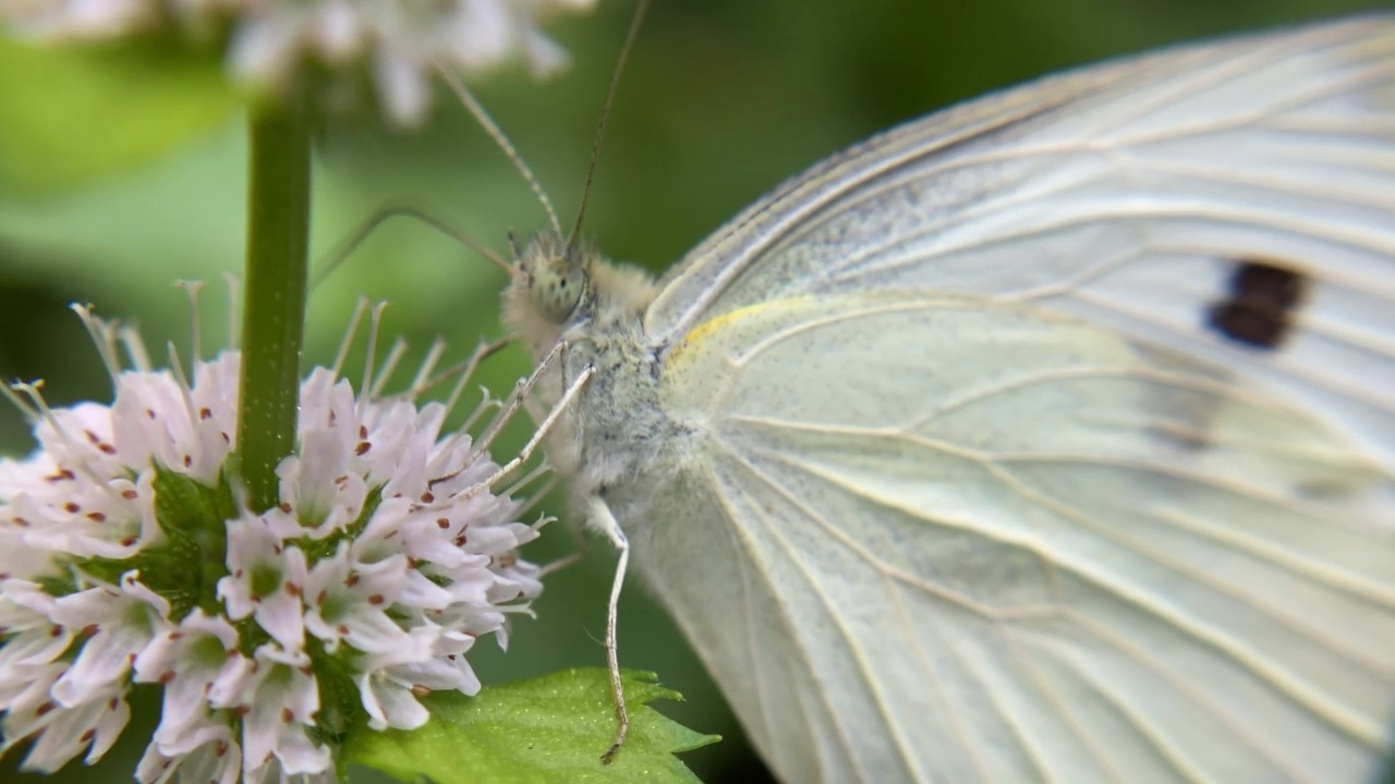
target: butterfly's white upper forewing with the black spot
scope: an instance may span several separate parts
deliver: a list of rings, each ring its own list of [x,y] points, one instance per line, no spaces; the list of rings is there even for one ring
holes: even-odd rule
[[[1392,259],[1395,18],[1373,15],[1087,68],[894,130],[699,246],[646,326],[677,342],[820,292],[1030,300],[1296,388],[1395,463]],[[1268,340],[1282,352],[1211,324],[1254,268],[1293,275],[1303,307]]]

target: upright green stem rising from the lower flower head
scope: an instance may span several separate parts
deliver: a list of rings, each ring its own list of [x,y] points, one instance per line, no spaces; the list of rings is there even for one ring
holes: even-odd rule
[[[279,502],[276,465],[296,448],[310,248],[310,128],[294,102],[248,114],[247,294],[237,425],[251,508]]]

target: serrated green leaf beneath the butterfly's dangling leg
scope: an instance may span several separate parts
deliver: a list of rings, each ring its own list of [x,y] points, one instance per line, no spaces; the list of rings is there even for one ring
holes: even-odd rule
[[[481,691],[474,698],[439,692],[427,698],[431,721],[420,730],[359,728],[345,744],[345,762],[378,769],[402,781],[435,784],[572,784],[619,781],[695,783],[675,753],[716,742],[649,707],[682,699],[651,672],[626,671],[629,737],[611,764],[600,756],[615,734],[610,675],[565,670]]]

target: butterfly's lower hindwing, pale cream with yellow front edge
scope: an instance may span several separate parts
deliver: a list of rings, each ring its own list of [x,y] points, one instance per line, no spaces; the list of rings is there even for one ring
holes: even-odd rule
[[[734,311],[667,372],[702,459],[635,552],[781,778],[1368,773],[1395,538],[1363,494],[1388,476],[1309,412],[915,293]]]

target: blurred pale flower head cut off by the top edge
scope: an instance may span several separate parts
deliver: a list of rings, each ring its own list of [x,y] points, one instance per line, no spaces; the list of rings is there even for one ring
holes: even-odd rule
[[[537,77],[566,66],[540,24],[596,0],[0,0],[0,21],[49,40],[102,40],[156,29],[206,38],[226,28],[234,80],[285,89],[306,66],[365,73],[386,114],[420,124],[431,75],[466,77],[522,61]]]

